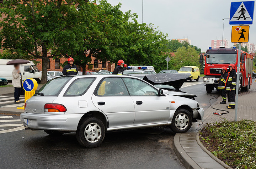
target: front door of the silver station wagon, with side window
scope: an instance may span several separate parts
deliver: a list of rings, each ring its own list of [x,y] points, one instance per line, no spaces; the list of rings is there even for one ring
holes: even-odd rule
[[[158,96],[158,90],[143,80],[123,78],[135,106],[133,125],[167,123],[170,102],[166,96]]]

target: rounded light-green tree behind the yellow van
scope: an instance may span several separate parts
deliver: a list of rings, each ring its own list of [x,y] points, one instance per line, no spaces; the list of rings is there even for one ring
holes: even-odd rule
[[[185,46],[180,47],[173,57],[173,67],[175,70],[180,69],[182,66],[198,66],[200,68],[199,56],[194,47]]]

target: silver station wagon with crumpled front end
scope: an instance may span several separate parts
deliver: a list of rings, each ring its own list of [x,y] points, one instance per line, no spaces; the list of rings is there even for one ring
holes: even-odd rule
[[[20,118],[26,129],[49,135],[76,132],[78,142],[92,148],[107,131],[154,126],[188,131],[204,112],[185,95],[127,75],[65,76],[50,80],[27,100]]]

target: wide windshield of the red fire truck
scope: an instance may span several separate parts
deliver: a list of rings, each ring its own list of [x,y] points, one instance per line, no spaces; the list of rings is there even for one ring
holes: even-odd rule
[[[207,64],[230,64],[236,63],[236,54],[209,54],[206,57]]]

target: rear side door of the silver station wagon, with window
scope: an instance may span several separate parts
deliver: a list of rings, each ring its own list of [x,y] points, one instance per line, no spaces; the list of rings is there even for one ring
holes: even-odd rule
[[[110,128],[132,126],[134,103],[122,78],[105,78],[92,95],[94,105],[106,113]]]

